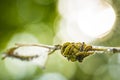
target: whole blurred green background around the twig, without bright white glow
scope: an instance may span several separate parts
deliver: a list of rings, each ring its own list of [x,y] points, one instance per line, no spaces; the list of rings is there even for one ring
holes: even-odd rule
[[[116,13],[111,32],[94,45],[120,46],[120,0],[106,0]],[[66,3],[67,4],[67,3]],[[1,0],[0,53],[14,43],[53,44],[60,15],[58,0]],[[82,63],[50,55],[46,69],[15,59],[0,60],[0,80],[119,80],[120,55],[95,54]],[[1,57],[0,55],[0,57]]]

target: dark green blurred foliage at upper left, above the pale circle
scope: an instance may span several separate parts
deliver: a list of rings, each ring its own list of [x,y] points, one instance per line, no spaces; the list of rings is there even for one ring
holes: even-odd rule
[[[56,6],[57,0],[0,1],[0,49],[19,32],[31,33],[40,42],[52,43],[55,21],[59,19]]]

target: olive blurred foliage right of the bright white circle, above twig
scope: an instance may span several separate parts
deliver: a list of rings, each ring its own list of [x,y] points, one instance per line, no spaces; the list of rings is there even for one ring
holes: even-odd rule
[[[120,0],[106,0],[114,9],[116,20],[109,34],[100,39],[96,39],[92,43],[101,46],[120,46]]]

